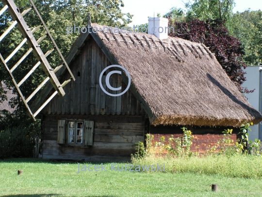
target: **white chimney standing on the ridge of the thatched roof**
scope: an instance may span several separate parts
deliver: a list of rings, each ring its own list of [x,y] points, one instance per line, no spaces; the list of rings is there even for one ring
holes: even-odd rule
[[[148,18],[148,34],[153,34],[159,39],[168,37],[168,19],[167,18]]]

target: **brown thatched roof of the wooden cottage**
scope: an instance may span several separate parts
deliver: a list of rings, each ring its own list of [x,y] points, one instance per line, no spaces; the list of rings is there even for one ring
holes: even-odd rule
[[[262,121],[204,45],[177,37],[161,41],[143,33],[91,35],[112,64],[128,70],[130,90],[151,124],[239,126]],[[76,40],[68,63],[87,36]]]

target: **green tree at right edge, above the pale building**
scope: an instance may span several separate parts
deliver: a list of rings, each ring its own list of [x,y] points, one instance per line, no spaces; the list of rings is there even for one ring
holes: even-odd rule
[[[248,65],[262,62],[262,11],[237,12],[229,22],[230,35],[239,38],[244,46],[243,59]]]

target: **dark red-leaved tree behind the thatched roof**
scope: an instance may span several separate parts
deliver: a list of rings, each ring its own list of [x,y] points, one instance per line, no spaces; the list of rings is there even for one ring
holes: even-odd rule
[[[241,93],[249,93],[254,90],[247,90],[242,87],[246,77],[242,67],[246,68],[246,64],[242,60],[244,49],[238,38],[229,36],[229,31],[224,27],[225,21],[221,20],[192,20],[187,22],[175,22],[169,24],[176,27],[174,33],[169,36],[177,36],[186,40],[200,43],[201,37],[204,44],[210,47],[210,51],[215,54],[216,59],[228,74],[231,81],[237,86]]]

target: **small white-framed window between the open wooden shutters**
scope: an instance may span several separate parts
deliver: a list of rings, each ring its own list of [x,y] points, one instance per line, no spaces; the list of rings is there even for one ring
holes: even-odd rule
[[[83,122],[68,122],[67,143],[83,144]]]

